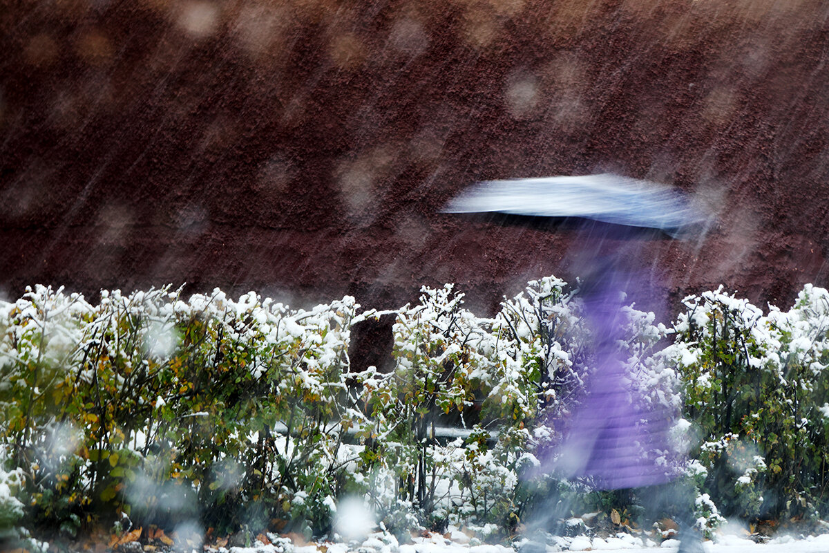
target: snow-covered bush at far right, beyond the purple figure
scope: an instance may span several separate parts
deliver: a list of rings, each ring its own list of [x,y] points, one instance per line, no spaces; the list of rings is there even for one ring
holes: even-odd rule
[[[683,303],[666,355],[701,432],[710,499],[729,516],[812,517],[829,484],[829,293],[807,285],[768,315],[721,289]]]

